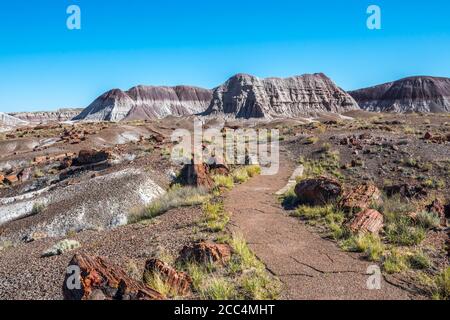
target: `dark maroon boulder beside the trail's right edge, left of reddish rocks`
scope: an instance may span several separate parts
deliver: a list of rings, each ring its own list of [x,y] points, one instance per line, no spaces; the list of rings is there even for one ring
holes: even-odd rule
[[[341,193],[341,184],[325,177],[303,180],[295,186],[295,194],[300,203],[313,206],[334,202]]]

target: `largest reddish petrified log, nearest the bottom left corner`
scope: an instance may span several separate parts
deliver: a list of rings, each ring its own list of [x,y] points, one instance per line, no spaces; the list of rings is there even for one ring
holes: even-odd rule
[[[159,292],[145,286],[142,282],[130,278],[126,272],[100,257],[76,254],[69,263],[70,267],[81,271],[79,279],[74,273],[67,273],[63,284],[66,300],[163,300]],[[76,275],[76,274],[75,274]],[[79,281],[79,288],[72,288]]]

